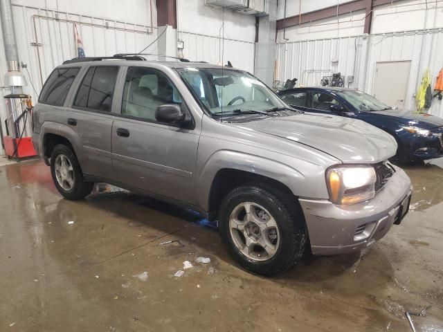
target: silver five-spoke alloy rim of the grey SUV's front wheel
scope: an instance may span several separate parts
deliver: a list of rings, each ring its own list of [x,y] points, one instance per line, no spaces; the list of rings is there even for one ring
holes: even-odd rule
[[[237,249],[254,261],[271,259],[280,246],[280,231],[275,219],[257,203],[237,205],[230,214],[229,231]]]

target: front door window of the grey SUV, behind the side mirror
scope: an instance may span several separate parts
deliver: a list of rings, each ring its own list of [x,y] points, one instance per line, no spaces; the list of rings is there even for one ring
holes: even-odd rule
[[[168,76],[152,68],[129,68],[123,89],[122,114],[155,121],[163,104],[181,104],[181,95]]]

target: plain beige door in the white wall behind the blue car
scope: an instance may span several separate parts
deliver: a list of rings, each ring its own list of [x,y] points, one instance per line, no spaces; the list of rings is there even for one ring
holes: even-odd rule
[[[410,61],[377,62],[374,97],[391,107],[404,109]]]

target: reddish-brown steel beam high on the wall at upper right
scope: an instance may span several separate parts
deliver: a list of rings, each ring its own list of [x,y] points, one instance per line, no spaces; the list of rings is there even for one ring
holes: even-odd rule
[[[372,1],[354,0],[346,3],[341,3],[338,6],[331,6],[319,10],[314,10],[312,12],[303,12],[300,15],[294,15],[291,17],[286,17],[285,19],[279,19],[277,21],[277,30],[281,30],[283,28],[289,28],[290,26],[298,26],[299,24],[301,25],[314,21],[319,21],[320,19],[328,19],[330,17],[336,17],[337,15],[351,14],[352,12],[357,12],[359,10],[365,10],[367,15],[365,19],[367,19],[368,16],[371,16],[371,21],[372,21],[372,10],[374,7],[386,5],[387,3],[392,3],[397,1],[402,1],[402,0],[372,0]],[[372,6],[368,15],[367,8],[369,2],[371,2]]]

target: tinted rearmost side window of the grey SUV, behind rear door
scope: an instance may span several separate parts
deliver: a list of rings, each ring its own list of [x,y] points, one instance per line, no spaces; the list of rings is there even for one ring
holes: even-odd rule
[[[62,106],[80,68],[56,68],[43,86],[39,102]]]

